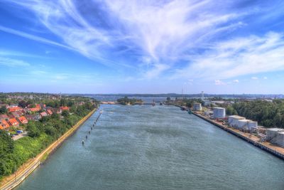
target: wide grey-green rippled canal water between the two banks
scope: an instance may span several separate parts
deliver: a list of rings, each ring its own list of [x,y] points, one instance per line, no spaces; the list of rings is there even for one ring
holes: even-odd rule
[[[178,107],[100,109],[16,189],[284,189],[283,160]]]

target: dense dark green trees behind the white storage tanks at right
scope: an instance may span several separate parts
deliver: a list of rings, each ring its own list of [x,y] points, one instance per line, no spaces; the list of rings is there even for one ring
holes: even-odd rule
[[[284,128],[283,100],[236,102],[232,107],[239,115],[255,120],[259,125]]]

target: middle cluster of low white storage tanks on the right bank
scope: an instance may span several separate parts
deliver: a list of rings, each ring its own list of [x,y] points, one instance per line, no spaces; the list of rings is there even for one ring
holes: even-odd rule
[[[228,117],[228,123],[238,130],[251,130],[258,127],[258,122],[246,120],[245,117],[241,117],[239,115],[230,115]]]

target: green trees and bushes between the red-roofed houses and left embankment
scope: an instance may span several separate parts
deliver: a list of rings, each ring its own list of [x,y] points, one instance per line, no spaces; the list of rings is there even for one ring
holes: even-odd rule
[[[72,113],[65,110],[61,115],[53,114],[40,121],[30,121],[26,125],[28,137],[15,142],[8,132],[0,130],[0,178],[12,174],[28,159],[35,157],[93,109],[91,102],[85,102],[73,107]]]

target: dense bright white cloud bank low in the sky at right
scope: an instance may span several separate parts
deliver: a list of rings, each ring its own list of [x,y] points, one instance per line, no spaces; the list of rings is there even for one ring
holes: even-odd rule
[[[211,50],[191,57],[187,68],[176,70],[175,77],[228,79],[240,75],[284,70],[284,36],[233,38],[215,43]]]

